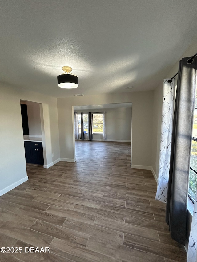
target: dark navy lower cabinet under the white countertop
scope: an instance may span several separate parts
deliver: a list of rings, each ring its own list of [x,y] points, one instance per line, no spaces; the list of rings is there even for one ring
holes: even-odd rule
[[[24,141],[26,163],[44,164],[42,142]]]

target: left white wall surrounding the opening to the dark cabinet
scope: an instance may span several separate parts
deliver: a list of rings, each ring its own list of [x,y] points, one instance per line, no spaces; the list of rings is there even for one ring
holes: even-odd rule
[[[27,179],[20,99],[42,103],[46,164],[59,160],[57,100],[22,88],[0,84],[0,195]],[[54,158],[52,158],[54,153]]]

